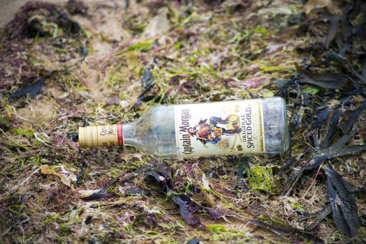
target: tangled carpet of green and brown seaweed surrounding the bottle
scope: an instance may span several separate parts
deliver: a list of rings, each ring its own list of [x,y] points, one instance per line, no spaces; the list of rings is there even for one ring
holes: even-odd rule
[[[362,242],[366,5],[334,7],[24,4],[1,34],[1,241]],[[161,13],[168,29],[151,37]],[[50,70],[68,71],[37,89]],[[10,98],[27,86],[44,92]],[[153,105],[272,96],[288,108],[291,148],[279,155],[164,164],[128,146],[78,149],[78,126],[127,123]]]

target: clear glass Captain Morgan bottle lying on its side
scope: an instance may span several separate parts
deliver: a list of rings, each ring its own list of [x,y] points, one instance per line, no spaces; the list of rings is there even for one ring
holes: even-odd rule
[[[282,153],[288,140],[279,97],[159,105],[131,123],[79,128],[81,148],[136,146],[159,159]]]

